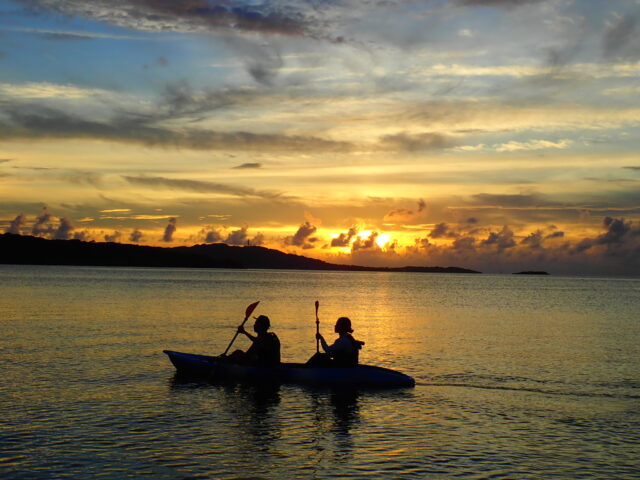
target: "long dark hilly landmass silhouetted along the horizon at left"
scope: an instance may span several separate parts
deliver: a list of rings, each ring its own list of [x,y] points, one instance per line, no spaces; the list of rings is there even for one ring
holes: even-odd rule
[[[0,235],[0,263],[16,265],[91,265],[109,267],[257,268],[363,272],[480,273],[459,267],[363,267],[340,265],[264,247],[224,243],[192,247],[148,247],[112,242],[47,240]]]

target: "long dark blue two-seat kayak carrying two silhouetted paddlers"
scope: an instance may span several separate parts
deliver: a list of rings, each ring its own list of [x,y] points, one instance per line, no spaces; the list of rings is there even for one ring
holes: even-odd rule
[[[281,363],[274,367],[239,365],[221,357],[164,350],[180,374],[214,379],[350,385],[371,388],[413,387],[415,380],[404,373],[383,367],[312,367],[303,363]]]

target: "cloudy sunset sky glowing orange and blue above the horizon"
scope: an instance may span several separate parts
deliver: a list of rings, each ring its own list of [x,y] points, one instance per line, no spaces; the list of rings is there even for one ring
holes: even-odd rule
[[[640,273],[640,0],[0,0],[0,229]]]

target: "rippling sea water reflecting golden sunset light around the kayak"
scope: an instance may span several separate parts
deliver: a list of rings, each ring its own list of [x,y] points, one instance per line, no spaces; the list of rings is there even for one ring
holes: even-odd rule
[[[637,278],[0,265],[0,299],[3,479],[640,478]],[[319,300],[416,387],[175,377],[257,300],[284,361]]]

